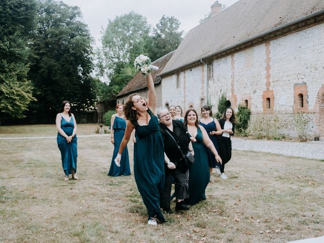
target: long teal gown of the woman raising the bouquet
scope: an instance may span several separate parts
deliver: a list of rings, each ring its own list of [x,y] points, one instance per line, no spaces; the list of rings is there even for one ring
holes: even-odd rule
[[[147,112],[151,116],[148,125],[140,126],[137,121],[132,121],[137,140],[134,145],[134,176],[148,219],[156,217],[165,222],[159,207],[159,191],[165,181],[164,144],[157,117],[149,109]]]

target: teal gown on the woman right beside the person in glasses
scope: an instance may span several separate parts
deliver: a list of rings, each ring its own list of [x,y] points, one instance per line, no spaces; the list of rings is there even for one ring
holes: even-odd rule
[[[186,203],[194,205],[200,200],[206,200],[205,190],[209,183],[208,157],[203,144],[203,133],[197,128],[196,142],[192,142],[194,149],[194,163],[189,169],[189,198]]]

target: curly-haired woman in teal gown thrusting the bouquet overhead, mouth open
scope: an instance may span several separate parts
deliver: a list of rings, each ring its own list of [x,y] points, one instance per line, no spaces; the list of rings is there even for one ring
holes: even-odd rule
[[[159,207],[159,191],[163,189],[164,145],[158,119],[152,111],[156,107],[156,95],[151,74],[146,75],[148,103],[138,94],[132,94],[125,104],[125,116],[128,119],[125,135],[120,143],[115,163],[119,164],[121,154],[136,130],[134,144],[134,176],[137,188],[147,209],[149,225],[166,222]]]

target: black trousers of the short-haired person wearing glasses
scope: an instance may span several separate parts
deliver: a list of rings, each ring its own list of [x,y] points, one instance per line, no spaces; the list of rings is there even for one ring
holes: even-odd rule
[[[177,168],[169,170],[165,165],[166,179],[163,189],[160,191],[160,207],[164,209],[170,208],[170,195],[172,188],[172,177],[175,181],[175,193],[177,199],[185,199],[189,197],[189,170],[182,173]]]

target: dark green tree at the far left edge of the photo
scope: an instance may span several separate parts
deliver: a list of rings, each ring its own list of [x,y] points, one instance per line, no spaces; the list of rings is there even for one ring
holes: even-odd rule
[[[35,100],[27,78],[35,13],[33,0],[3,0],[0,5],[0,114],[5,119],[24,117]]]

